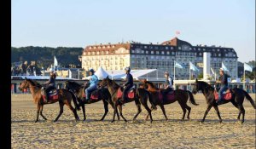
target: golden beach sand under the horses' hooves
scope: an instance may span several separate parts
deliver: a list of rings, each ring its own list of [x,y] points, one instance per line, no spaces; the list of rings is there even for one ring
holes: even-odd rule
[[[255,95],[251,95],[255,100]],[[204,115],[207,104],[202,95],[195,95],[199,106],[192,107],[191,120],[181,121],[182,109],[176,103],[166,106],[165,120],[160,107],[153,112],[154,122],[144,121],[146,110],[132,122],[136,114],[135,104],[126,104],[123,108],[123,120],[110,123],[113,109],[105,121],[98,121],[104,112],[102,101],[86,106],[87,120],[75,122],[73,113],[64,108],[57,123],[53,120],[59,112],[58,103],[44,106],[44,121],[38,123],[36,105],[32,95],[12,95],[12,148],[255,148],[255,110],[245,100],[245,123],[236,120],[238,110],[228,103],[219,106],[223,123],[212,108],[205,123],[199,121]],[[83,119],[82,111],[79,111]]]

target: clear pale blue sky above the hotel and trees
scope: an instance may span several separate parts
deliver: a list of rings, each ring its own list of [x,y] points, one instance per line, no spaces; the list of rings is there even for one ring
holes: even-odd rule
[[[255,0],[12,0],[16,48],[162,43],[176,36],[233,48],[241,62],[255,60]]]

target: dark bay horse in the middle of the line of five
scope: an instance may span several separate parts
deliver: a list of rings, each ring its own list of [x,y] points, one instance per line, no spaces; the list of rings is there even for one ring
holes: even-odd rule
[[[109,79],[108,77],[104,78],[102,80],[101,83],[99,83],[100,86],[107,86],[108,87],[108,91],[111,95],[111,99],[113,100],[113,107],[114,107],[114,112],[113,112],[113,120],[111,121],[112,123],[114,122],[114,118],[115,118],[115,114],[118,113],[117,111],[117,107],[119,107],[119,114],[120,116],[125,120],[125,122],[127,122],[127,120],[125,119],[125,117],[123,116],[122,113],[122,105],[124,104],[123,102],[119,102],[119,100],[122,98],[121,94],[122,94],[122,88],[119,86],[119,84],[115,83],[113,80]],[[139,115],[140,112],[142,112],[142,108],[141,108],[141,104],[145,107],[145,109],[148,112],[148,115],[150,117],[150,123],[153,122],[152,119],[152,115],[151,115],[151,110],[148,107],[147,101],[149,98],[149,95],[145,95],[146,92],[143,92],[143,89],[136,89],[136,91],[128,91],[128,99],[126,100],[125,103],[131,102],[131,101],[135,101],[135,104],[137,106],[137,114],[133,117],[133,121],[136,120],[137,116]],[[129,97],[129,94],[131,93],[131,96]],[[135,92],[135,93],[134,93]],[[132,96],[132,94],[134,94]]]

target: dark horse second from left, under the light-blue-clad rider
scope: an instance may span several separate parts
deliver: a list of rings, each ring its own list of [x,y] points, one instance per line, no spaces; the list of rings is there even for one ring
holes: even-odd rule
[[[104,109],[105,109],[105,113],[102,116],[102,118],[100,119],[101,121],[104,120],[105,116],[108,114],[108,103],[113,107],[113,101],[111,100],[111,95],[108,92],[108,89],[105,88],[101,88],[101,89],[96,89],[96,92],[98,94],[97,99],[94,100],[90,100],[90,103],[88,103],[87,101],[82,102],[82,100],[84,100],[84,88],[88,88],[88,85],[81,85],[79,83],[73,82],[73,81],[66,81],[64,84],[64,89],[67,89],[69,91],[71,91],[73,93],[73,95],[75,95],[77,97],[77,100],[79,101],[80,104],[82,104],[82,109],[83,109],[83,114],[84,114],[84,121],[86,119],[85,117],[85,108],[84,108],[84,104],[90,104],[90,103],[95,103],[99,100],[103,101],[104,104]],[[94,94],[94,92],[92,93],[92,95]],[[77,109],[79,110],[79,109]],[[119,115],[118,115],[119,117]]]

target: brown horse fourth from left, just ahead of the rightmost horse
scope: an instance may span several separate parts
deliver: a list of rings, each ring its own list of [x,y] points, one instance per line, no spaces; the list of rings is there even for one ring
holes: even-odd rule
[[[188,119],[190,118],[189,114],[191,111],[191,107],[187,105],[188,98],[193,105],[198,106],[198,104],[195,103],[193,94],[189,90],[176,89],[173,91],[171,95],[172,97],[170,97],[172,99],[165,100],[166,98],[162,96],[161,89],[158,89],[157,87],[155,87],[154,83],[148,82],[145,79],[141,80],[140,82],[142,82],[145,85],[145,87],[148,88],[148,92],[152,96],[152,98],[150,98],[152,99],[150,101],[152,105],[151,110],[153,110],[155,106],[160,106],[164,116],[166,117],[166,120],[168,120],[168,118],[166,116],[166,110],[164,105],[172,104],[177,101],[178,104],[183,109],[182,120],[184,120],[186,109],[188,110],[187,118]],[[148,119],[148,116],[146,117],[146,119]]]

